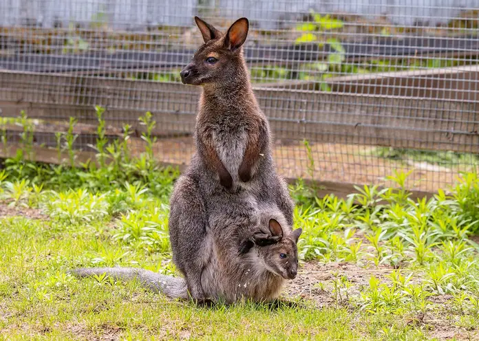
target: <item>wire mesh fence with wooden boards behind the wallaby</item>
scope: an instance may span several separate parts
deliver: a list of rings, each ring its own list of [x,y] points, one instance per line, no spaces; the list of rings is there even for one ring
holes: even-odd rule
[[[390,184],[434,191],[479,165],[479,1],[4,0],[0,3],[1,154],[13,155],[23,110],[36,159],[55,161],[56,133],[92,156],[95,106],[107,135],[156,120],[155,155],[184,165],[199,89],[179,71],[202,43],[193,16],[226,30],[251,21],[244,54],[288,178],[326,191]]]

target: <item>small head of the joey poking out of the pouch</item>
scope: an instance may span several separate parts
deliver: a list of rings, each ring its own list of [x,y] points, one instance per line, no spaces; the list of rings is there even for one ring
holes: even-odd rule
[[[269,229],[273,236],[281,236],[281,239],[273,245],[257,248],[259,257],[269,272],[285,279],[294,279],[298,270],[297,242],[303,230],[297,228],[284,236],[281,225],[275,219],[270,219]]]

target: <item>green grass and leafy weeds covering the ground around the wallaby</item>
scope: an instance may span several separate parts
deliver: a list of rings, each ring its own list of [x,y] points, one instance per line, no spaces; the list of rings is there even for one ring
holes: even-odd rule
[[[395,188],[357,188],[319,199],[298,181],[301,269],[283,298],[296,306],[196,307],[72,267],[135,266],[177,275],[168,236],[178,177],[123,140],[102,138],[83,168],[34,164],[0,170],[0,339],[474,340],[478,338],[479,178],[413,201]],[[143,139],[151,143],[149,115]],[[74,135],[62,136],[63,146]],[[25,143],[28,143],[25,142]],[[74,151],[69,151],[74,158]],[[103,166],[96,166],[96,164]],[[311,166],[312,168],[314,165]]]

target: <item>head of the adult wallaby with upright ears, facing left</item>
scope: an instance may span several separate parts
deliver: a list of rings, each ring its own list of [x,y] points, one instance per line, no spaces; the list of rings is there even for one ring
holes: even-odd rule
[[[182,83],[228,85],[232,80],[247,78],[242,45],[248,35],[248,19],[235,21],[226,34],[198,17],[195,21],[204,44],[195,52],[193,61],[180,72]]]

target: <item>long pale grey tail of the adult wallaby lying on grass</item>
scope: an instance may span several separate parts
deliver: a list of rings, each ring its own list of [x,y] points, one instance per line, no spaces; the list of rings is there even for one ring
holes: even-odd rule
[[[135,267],[89,267],[69,270],[76,277],[90,277],[107,274],[116,281],[133,281],[135,278],[151,292],[162,293],[169,298],[188,299],[187,282],[183,278],[166,276]]]

